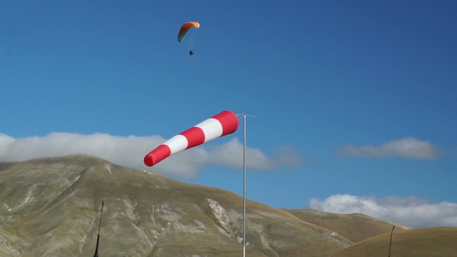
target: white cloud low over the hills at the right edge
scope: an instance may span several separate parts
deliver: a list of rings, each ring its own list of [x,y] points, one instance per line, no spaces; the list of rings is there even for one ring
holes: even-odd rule
[[[309,208],[331,213],[364,213],[383,221],[412,227],[457,226],[457,203],[431,203],[423,198],[351,196],[336,194],[321,201],[311,199]]]

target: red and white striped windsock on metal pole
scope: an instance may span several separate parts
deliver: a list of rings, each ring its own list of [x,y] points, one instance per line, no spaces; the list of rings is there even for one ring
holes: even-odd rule
[[[235,132],[236,129],[238,129],[236,114],[231,111],[222,111],[162,143],[144,156],[144,164],[153,166],[171,154],[228,135]]]

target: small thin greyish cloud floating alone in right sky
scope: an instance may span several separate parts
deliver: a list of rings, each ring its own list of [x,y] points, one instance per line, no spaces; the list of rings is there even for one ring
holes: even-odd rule
[[[439,150],[428,141],[416,138],[403,138],[388,141],[381,146],[342,146],[337,149],[338,156],[353,156],[361,158],[410,158],[433,160],[438,158]]]

